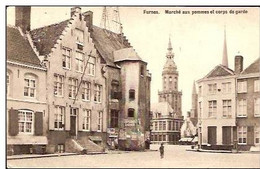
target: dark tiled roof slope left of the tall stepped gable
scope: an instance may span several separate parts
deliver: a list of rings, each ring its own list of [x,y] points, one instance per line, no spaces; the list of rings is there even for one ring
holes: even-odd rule
[[[33,43],[40,55],[51,53],[51,49],[69,24],[69,21],[70,19],[30,31]]]

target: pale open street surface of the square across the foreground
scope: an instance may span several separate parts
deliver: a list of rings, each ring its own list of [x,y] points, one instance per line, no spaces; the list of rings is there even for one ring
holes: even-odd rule
[[[159,145],[151,145],[151,150],[158,149]],[[7,165],[26,168],[260,168],[259,153],[208,153],[186,149],[190,146],[165,145],[163,159],[159,151],[146,151],[7,160]]]

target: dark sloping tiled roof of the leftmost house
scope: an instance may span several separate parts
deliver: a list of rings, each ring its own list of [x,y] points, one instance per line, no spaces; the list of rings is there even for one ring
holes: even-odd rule
[[[28,39],[17,27],[7,26],[7,60],[40,67],[40,60]]]

